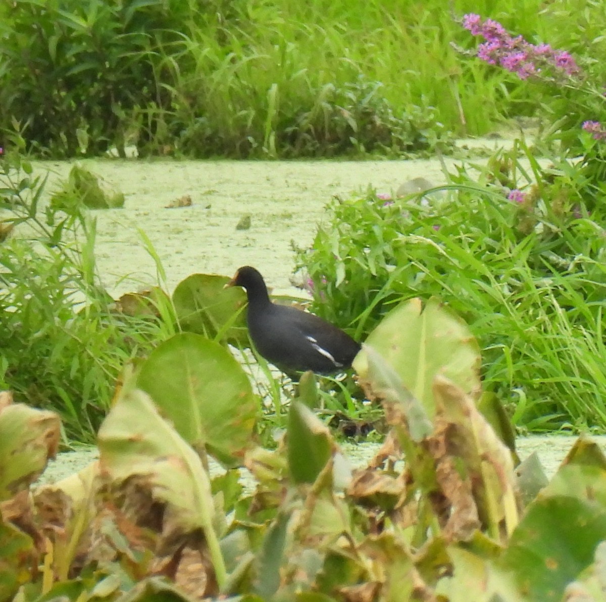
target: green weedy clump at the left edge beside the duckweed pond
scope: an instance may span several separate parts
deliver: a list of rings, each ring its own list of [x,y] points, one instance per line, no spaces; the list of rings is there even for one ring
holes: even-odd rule
[[[125,361],[150,350],[165,323],[115,309],[82,205],[66,212],[42,202],[45,178],[18,153],[4,155],[0,170],[0,212],[12,227],[0,244],[0,386],[56,410],[68,438],[90,441]]]

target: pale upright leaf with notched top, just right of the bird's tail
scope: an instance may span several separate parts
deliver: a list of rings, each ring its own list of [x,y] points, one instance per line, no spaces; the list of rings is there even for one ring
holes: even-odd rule
[[[481,385],[480,353],[467,325],[430,299],[409,299],[382,319],[365,341],[398,374],[411,394],[421,401],[430,418],[435,413],[431,387],[436,375],[453,381],[474,399]],[[362,379],[368,376],[368,356],[362,349],[353,367]]]

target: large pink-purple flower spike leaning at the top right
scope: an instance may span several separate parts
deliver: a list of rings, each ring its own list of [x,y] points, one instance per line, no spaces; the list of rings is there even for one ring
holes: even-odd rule
[[[482,21],[481,16],[470,13],[463,17],[463,27],[471,35],[482,36],[486,40],[478,47],[478,58],[491,65],[500,65],[520,79],[538,75],[544,68],[567,76],[581,71],[564,50],[553,50],[549,44],[530,44],[522,36],[513,38],[493,19]]]

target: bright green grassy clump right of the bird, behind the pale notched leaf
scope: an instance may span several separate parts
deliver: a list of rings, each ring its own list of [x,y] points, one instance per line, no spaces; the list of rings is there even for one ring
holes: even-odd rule
[[[476,169],[430,201],[372,190],[334,201],[297,255],[313,311],[364,340],[394,303],[439,296],[470,324],[485,385],[516,402],[516,424],[604,428],[606,375],[593,360],[604,347],[604,215],[583,196],[593,185],[565,159],[541,167],[524,144]]]

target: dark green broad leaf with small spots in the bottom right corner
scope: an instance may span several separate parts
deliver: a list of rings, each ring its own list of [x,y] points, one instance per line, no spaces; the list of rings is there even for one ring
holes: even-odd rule
[[[561,600],[564,588],[590,566],[596,546],[606,539],[604,507],[573,495],[540,495],[498,561],[530,600]]]

